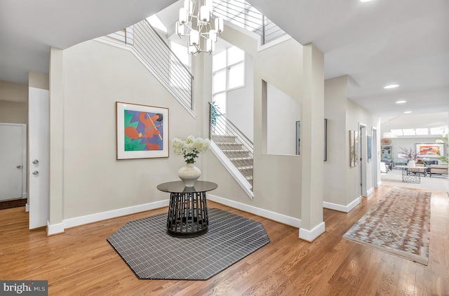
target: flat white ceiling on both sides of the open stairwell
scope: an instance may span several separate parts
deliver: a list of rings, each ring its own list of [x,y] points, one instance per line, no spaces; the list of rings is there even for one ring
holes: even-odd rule
[[[1,0],[0,80],[27,83],[29,70],[48,73],[50,46],[104,36],[174,2]],[[448,0],[250,3],[298,42],[314,43],[324,53],[325,78],[348,75],[349,99],[370,112],[449,112]],[[400,86],[383,88],[393,83]]]

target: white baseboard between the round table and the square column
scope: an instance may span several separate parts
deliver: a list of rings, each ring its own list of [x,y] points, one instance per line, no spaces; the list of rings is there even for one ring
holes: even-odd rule
[[[267,218],[269,220],[274,220],[276,222],[280,222],[282,224],[287,224],[292,227],[300,228],[301,227],[301,220],[282,215],[279,213],[274,213],[269,210],[264,210],[263,208],[256,208],[255,206],[249,206],[245,203],[239,203],[238,201],[231,201],[230,199],[224,199],[220,196],[215,196],[213,194],[207,194],[207,199],[210,201],[215,201],[215,203],[221,203],[222,205],[229,206],[232,208],[236,208],[238,210],[243,210],[244,212],[248,212],[260,217]]]

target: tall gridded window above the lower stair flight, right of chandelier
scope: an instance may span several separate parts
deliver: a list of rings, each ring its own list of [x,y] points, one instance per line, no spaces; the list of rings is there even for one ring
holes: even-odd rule
[[[227,92],[245,86],[245,52],[236,46],[213,55],[213,101],[226,114]]]

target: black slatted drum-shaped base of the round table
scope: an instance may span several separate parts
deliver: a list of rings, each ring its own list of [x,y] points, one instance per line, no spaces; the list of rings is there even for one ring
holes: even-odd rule
[[[167,233],[176,237],[201,236],[208,231],[206,192],[170,193]]]

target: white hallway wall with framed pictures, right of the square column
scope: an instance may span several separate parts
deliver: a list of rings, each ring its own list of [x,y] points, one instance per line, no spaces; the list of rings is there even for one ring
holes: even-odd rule
[[[337,205],[335,209],[351,210],[360,196],[360,166],[349,166],[349,130],[358,130],[359,123],[366,125],[366,133],[380,128],[380,118],[347,99],[347,76],[325,81],[325,117],[328,119],[328,160],[324,163],[325,187],[323,201]],[[364,182],[368,191],[375,187],[373,180],[373,161],[366,158],[366,135],[363,135],[363,166],[366,168]],[[380,139],[379,139],[380,140]],[[377,151],[380,151],[380,144]],[[373,149],[374,151],[374,149]],[[327,205],[327,207],[329,204]]]

